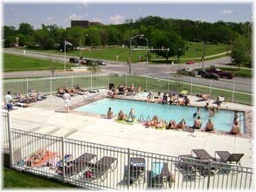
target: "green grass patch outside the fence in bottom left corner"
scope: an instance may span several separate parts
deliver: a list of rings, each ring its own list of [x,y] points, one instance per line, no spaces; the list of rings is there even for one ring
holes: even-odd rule
[[[59,182],[39,175],[3,167],[3,189],[79,189],[69,183]]]

